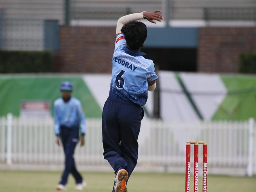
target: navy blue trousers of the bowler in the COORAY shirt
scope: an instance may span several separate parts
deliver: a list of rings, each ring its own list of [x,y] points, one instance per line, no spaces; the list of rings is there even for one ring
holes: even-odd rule
[[[104,158],[115,171],[133,172],[138,159],[138,135],[143,108],[125,101],[108,98],[102,115]],[[114,190],[113,190],[114,191]]]

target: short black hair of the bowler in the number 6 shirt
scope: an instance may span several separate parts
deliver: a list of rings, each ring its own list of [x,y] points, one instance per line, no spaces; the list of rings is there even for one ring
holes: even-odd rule
[[[131,50],[143,47],[147,38],[147,27],[143,22],[129,21],[121,29],[125,36],[126,43]]]

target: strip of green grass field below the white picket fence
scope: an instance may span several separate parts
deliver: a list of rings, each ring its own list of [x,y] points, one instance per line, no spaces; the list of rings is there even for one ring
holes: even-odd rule
[[[85,192],[111,192],[114,181],[112,173],[83,172],[82,175],[88,183]],[[59,179],[60,172],[0,171],[0,192],[54,192]],[[133,173],[127,188],[129,192],[184,192],[184,179],[183,174]],[[67,191],[75,192],[71,176]],[[255,192],[256,177],[209,175],[208,191]]]

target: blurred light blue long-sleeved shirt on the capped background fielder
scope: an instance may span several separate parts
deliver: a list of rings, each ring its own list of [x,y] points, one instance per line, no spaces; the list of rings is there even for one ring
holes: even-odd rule
[[[81,102],[71,97],[67,103],[62,98],[54,101],[54,132],[60,134],[60,127],[63,125],[70,129],[80,127],[81,133],[86,133],[85,116]]]

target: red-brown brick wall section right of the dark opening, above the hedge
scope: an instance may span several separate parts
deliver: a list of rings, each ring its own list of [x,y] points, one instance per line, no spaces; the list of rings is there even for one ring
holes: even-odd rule
[[[241,52],[256,50],[256,27],[199,30],[198,71],[237,73]]]

